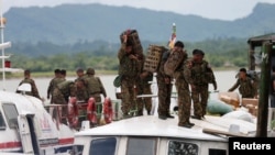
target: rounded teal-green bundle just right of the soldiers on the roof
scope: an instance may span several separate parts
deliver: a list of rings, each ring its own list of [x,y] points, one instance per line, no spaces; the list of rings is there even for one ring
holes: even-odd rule
[[[207,112],[223,115],[233,111],[233,107],[220,100],[208,100]]]

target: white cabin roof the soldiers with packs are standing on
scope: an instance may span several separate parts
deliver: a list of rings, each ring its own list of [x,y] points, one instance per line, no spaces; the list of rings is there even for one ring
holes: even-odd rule
[[[75,136],[165,136],[165,137],[183,137],[209,141],[228,141],[226,136],[217,136],[202,132],[204,129],[218,130],[229,132],[230,125],[240,126],[240,133],[248,135],[256,130],[254,123],[226,119],[221,117],[206,115],[205,120],[190,120],[195,123],[191,129],[178,126],[178,119],[161,120],[156,115],[142,115],[131,119],[124,119],[112,122],[107,125],[87,129],[75,134]],[[224,139],[226,137],[226,139]]]

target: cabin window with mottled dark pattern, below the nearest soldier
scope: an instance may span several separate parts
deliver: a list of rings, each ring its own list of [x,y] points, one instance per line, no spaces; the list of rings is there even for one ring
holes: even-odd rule
[[[194,143],[183,141],[169,141],[168,155],[198,155],[199,147]]]

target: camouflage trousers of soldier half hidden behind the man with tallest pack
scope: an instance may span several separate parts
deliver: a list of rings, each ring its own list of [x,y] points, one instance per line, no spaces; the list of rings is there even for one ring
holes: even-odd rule
[[[139,95],[152,95],[151,85],[140,85],[138,87]],[[143,115],[143,107],[145,107],[147,114],[150,114],[152,109],[152,98],[151,97],[144,97],[144,98],[138,98],[138,114]]]

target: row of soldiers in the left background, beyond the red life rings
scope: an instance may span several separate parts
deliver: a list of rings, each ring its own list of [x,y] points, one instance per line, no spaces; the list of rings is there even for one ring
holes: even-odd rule
[[[64,115],[62,122],[67,123],[66,115],[68,114],[67,104],[69,98],[76,98],[77,103],[87,103],[89,98],[94,98],[96,102],[101,102],[101,95],[106,98],[106,89],[99,77],[95,76],[94,68],[87,68],[86,73],[82,68],[77,68],[77,78],[75,80],[66,79],[65,69],[55,69],[54,78],[51,79],[47,88],[47,99],[51,104],[63,104],[61,115]],[[35,81],[31,78],[31,71],[24,71],[24,79],[20,82],[30,84],[31,91],[26,91],[26,95],[34,96],[41,100],[38,90],[36,88]],[[16,92],[20,92],[16,90]],[[102,109],[102,106],[101,106]],[[100,111],[99,111],[100,112]],[[56,111],[54,112],[56,117]]]

